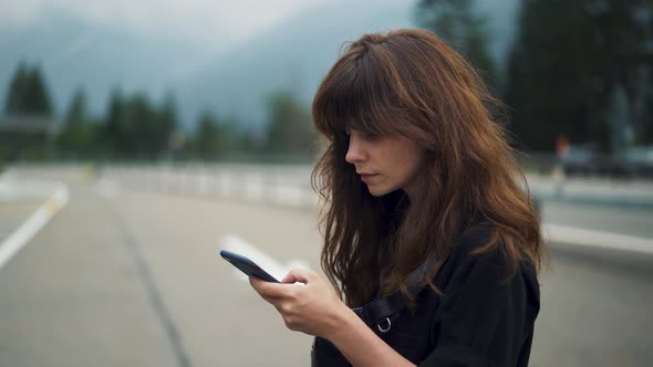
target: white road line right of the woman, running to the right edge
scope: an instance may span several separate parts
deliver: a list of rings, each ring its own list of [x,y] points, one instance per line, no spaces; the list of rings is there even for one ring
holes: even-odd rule
[[[542,231],[551,242],[653,255],[653,239],[552,223],[542,224]]]

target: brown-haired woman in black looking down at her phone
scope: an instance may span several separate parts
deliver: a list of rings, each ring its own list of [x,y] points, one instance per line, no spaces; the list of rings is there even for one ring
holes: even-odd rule
[[[304,270],[250,279],[318,337],[313,365],[527,366],[545,247],[498,105],[423,30],[366,34],[331,69],[313,101],[331,284]],[[377,327],[352,310],[397,292],[406,307]]]

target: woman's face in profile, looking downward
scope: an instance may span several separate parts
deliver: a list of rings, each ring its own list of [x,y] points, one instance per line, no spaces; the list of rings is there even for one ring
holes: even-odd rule
[[[345,160],[356,168],[370,193],[380,197],[403,189],[413,198],[411,187],[424,165],[424,149],[404,136],[379,137],[348,129]]]

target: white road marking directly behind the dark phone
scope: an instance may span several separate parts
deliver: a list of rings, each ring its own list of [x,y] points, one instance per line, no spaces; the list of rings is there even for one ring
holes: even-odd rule
[[[286,274],[288,274],[288,272],[292,268],[302,268],[307,270],[309,269],[308,264],[300,260],[292,260],[289,261],[288,264],[283,265],[277,260],[274,260],[272,256],[257,249],[255,245],[232,234],[227,234],[222,237],[219,242],[220,250],[231,251],[249,258],[251,261],[257,263],[257,265],[259,265],[262,270],[265,270],[279,281],[281,281],[283,276],[286,276]],[[231,266],[227,264],[226,261],[225,265]],[[234,268],[234,274],[241,281],[248,281],[247,275],[245,275],[241,271],[239,271],[236,268]]]

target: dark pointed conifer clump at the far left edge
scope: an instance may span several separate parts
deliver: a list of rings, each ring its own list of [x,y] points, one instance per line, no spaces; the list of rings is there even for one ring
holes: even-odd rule
[[[21,62],[9,85],[4,112],[8,115],[52,116],[53,108],[39,66]]]

